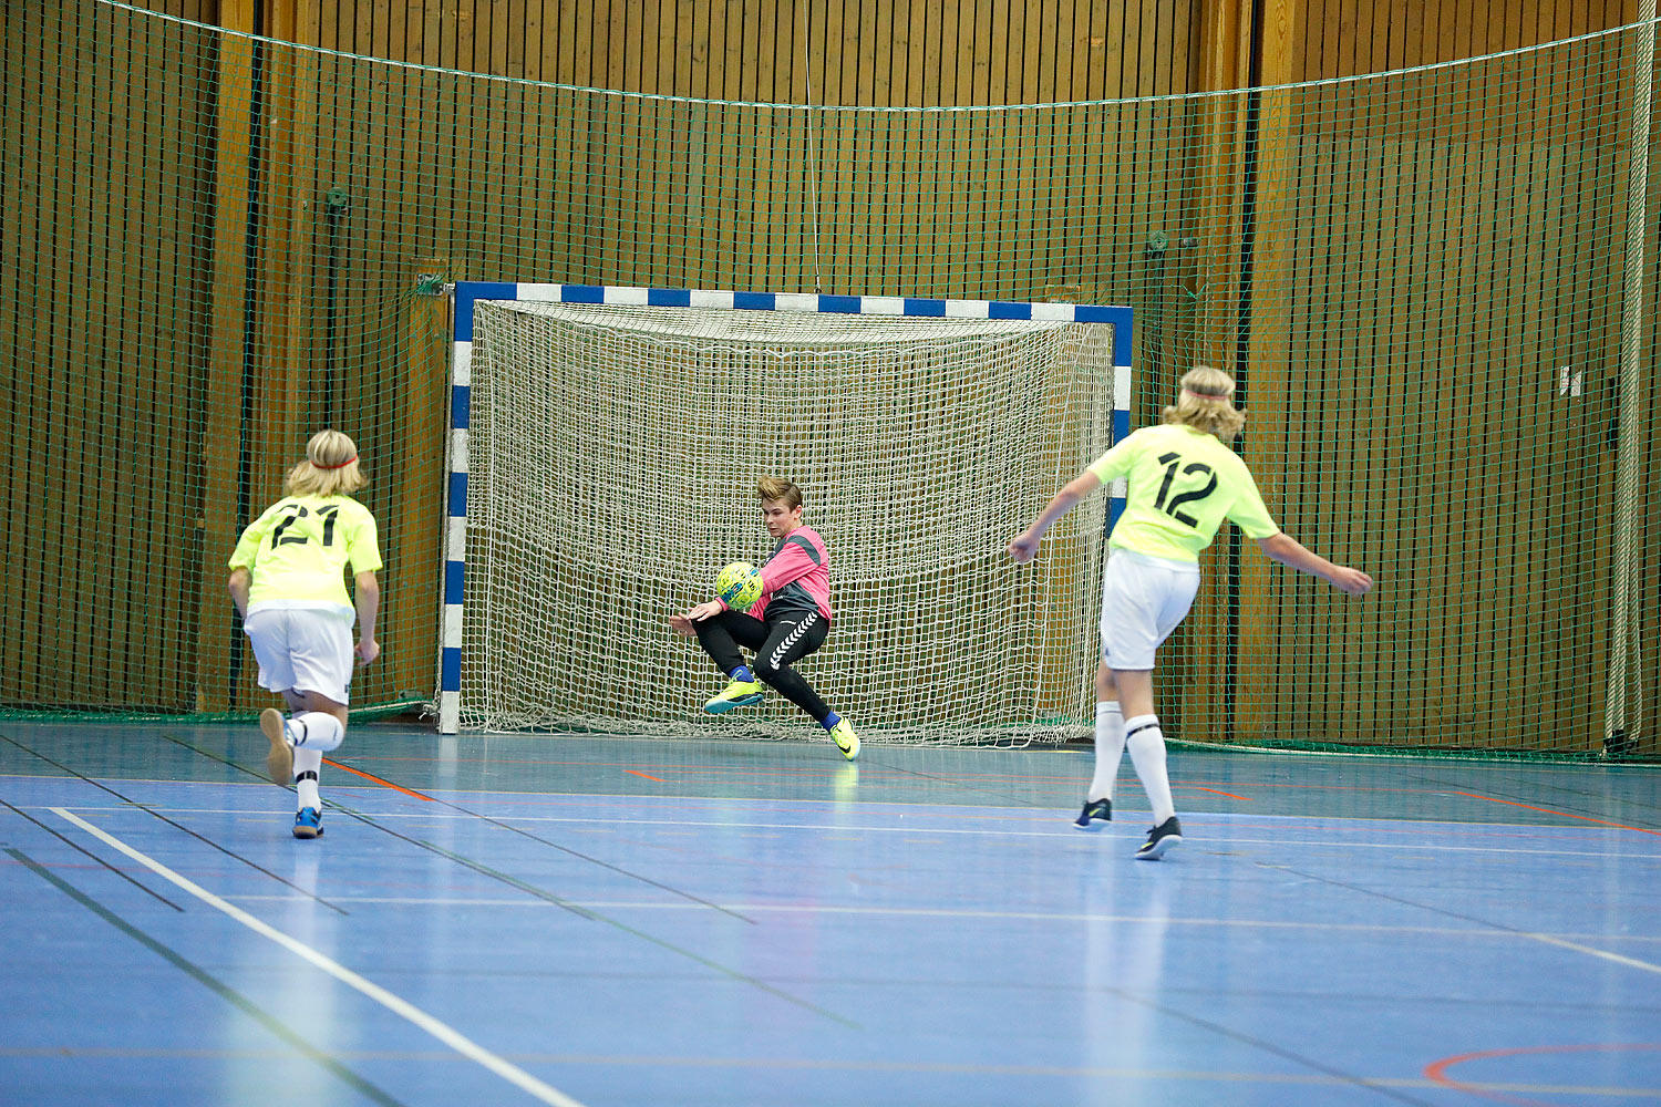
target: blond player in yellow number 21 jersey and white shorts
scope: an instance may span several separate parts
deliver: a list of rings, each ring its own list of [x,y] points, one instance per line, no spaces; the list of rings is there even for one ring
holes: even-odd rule
[[[345,737],[352,654],[367,666],[380,652],[375,516],[345,495],[364,483],[352,440],[337,430],[317,432],[306,443],[306,460],[289,470],[284,498],[247,524],[231,554],[231,599],[259,659],[259,687],[281,694],[292,714],[284,719],[267,707],[259,729],[271,747],[271,780],[294,780],[296,838],[322,835],[317,773],[322,755]],[[342,578],[347,564],[357,586],[355,612]]]

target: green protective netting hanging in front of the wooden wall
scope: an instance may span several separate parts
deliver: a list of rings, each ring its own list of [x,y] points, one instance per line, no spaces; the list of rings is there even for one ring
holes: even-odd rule
[[[1354,602],[1219,539],[1169,734],[1661,752],[1654,25],[985,110],[540,85],[98,0],[15,5],[0,48],[7,709],[269,702],[223,566],[322,425],[387,558],[354,700],[430,699],[434,292],[565,280],[1128,304],[1134,422],[1229,368],[1276,518],[1379,579]]]

